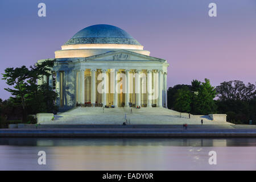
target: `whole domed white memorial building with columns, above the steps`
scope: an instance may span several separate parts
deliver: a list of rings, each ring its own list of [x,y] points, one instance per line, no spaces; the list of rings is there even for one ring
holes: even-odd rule
[[[62,109],[75,106],[167,107],[167,67],[121,28],[86,27],[55,51],[52,75],[42,76]],[[39,60],[42,63],[44,60]]]

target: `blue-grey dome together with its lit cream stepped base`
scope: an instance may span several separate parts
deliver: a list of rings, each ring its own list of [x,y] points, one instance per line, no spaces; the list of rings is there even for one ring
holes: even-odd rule
[[[109,24],[95,24],[73,35],[61,50],[55,51],[55,58],[89,57],[118,49],[150,55],[150,51],[143,50],[125,30]]]

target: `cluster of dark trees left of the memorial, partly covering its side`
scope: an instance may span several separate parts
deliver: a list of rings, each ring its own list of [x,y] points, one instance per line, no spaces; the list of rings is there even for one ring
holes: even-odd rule
[[[56,112],[55,100],[57,94],[47,83],[38,85],[37,80],[42,75],[51,75],[51,67],[54,60],[46,60],[43,63],[35,64],[30,68],[6,68],[2,74],[3,80],[9,85],[5,88],[11,93],[11,97],[0,102],[2,119],[15,118],[22,115],[22,121],[27,122],[28,114],[42,112]]]

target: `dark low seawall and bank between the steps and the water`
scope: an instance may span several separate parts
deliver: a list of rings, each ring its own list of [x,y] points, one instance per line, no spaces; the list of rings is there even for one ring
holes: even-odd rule
[[[108,138],[182,138],[182,137],[256,137],[256,126],[215,126],[190,125],[183,129],[182,125],[77,125],[43,126],[45,128],[32,128],[35,125],[23,126],[20,129],[0,129],[0,137],[108,137]],[[47,128],[49,127],[49,128]],[[62,127],[62,128],[61,128]],[[228,127],[228,128],[227,128]]]

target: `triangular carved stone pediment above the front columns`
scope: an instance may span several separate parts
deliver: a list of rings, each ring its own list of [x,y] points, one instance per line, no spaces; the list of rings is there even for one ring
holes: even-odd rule
[[[100,55],[85,57],[85,60],[112,60],[112,61],[159,61],[166,60],[157,57],[142,55],[141,53],[131,52],[124,49],[109,51]]]

